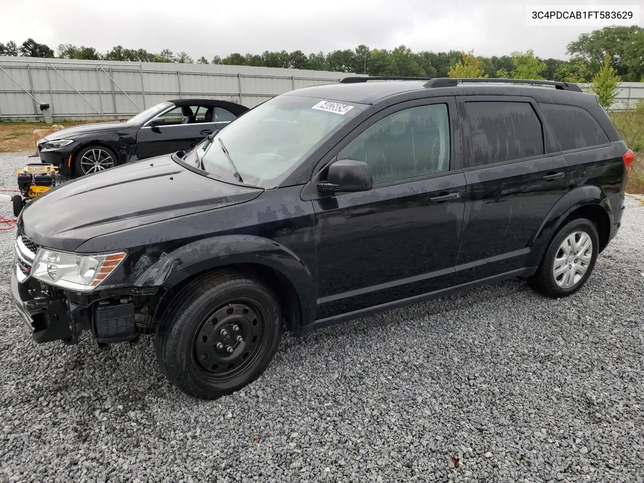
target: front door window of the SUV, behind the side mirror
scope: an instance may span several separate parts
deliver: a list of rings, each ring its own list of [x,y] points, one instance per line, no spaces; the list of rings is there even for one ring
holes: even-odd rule
[[[447,104],[403,109],[375,122],[340,153],[369,165],[374,184],[450,169],[450,119]]]

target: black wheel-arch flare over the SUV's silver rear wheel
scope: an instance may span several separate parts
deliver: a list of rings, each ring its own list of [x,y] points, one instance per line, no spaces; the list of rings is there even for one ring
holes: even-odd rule
[[[609,216],[612,225],[611,202],[602,189],[594,185],[584,185],[574,188],[554,204],[531,240],[531,251],[528,260],[529,267],[536,267],[540,264],[548,243],[552,240],[554,234],[562,227],[569,214],[584,205],[601,206]]]

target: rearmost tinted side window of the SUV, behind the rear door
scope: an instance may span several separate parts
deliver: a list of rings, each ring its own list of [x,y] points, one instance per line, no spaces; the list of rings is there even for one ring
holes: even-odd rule
[[[562,151],[600,146],[609,142],[599,123],[586,109],[563,104],[541,104]]]

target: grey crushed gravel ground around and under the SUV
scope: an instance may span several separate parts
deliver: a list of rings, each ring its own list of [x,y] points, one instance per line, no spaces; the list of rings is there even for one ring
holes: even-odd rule
[[[0,189],[24,160],[0,155]],[[570,298],[513,280],[285,337],[211,402],[150,339],[36,345],[0,232],[0,481],[642,482],[644,205],[623,222]]]

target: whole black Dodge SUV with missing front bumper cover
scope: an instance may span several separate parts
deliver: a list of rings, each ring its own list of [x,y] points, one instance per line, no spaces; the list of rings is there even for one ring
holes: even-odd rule
[[[573,294],[620,227],[630,162],[574,84],[353,77],[291,91],[191,151],[32,201],[15,305],[39,343],[155,331],[168,379],[218,397],[265,370],[284,329],[512,277]]]

